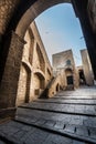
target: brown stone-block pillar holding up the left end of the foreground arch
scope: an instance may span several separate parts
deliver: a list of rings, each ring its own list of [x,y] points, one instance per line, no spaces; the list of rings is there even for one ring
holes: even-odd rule
[[[11,33],[10,48],[0,85],[0,112],[3,112],[1,116],[8,116],[8,111],[10,111],[9,115],[12,116],[14,114],[20,64],[24,43],[24,40],[18,34],[14,32]]]

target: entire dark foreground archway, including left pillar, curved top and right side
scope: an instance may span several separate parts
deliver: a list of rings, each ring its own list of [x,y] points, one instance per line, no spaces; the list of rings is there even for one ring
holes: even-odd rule
[[[2,45],[0,49],[1,109],[15,106],[20,63],[22,59],[23,45],[25,43],[23,38],[26,29],[41,12],[54,4],[63,2],[72,2],[76,16],[79,18],[96,78],[96,33],[93,32],[89,22],[89,16],[87,12],[88,0],[11,0],[12,7],[10,7],[10,2],[8,2],[9,9],[4,10],[3,14],[9,14],[10,17],[3,17],[0,19],[0,43]]]

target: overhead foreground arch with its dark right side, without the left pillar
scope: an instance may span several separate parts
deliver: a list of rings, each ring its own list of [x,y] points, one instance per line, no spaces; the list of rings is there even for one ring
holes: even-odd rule
[[[68,2],[72,3],[76,16],[79,18],[81,25],[84,32],[84,38],[86,40],[87,49],[89,52],[92,66],[96,76],[96,62],[95,56],[93,58],[93,53],[95,51],[96,45],[96,33],[93,32],[89,13],[87,11],[87,3],[88,0],[29,0],[29,1],[21,1],[18,7],[18,11],[15,11],[12,20],[8,28],[15,31],[15,33],[20,37],[24,37],[25,31],[30,23],[44,10],[49,9],[52,6]],[[23,8],[22,8],[23,6]],[[8,29],[9,30],[9,29]],[[93,43],[93,44],[92,44]],[[96,53],[95,53],[96,54]]]

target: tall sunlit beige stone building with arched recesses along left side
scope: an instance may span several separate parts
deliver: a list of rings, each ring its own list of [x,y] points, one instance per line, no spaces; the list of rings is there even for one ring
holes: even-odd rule
[[[53,76],[52,66],[42,43],[35,22],[26,30],[17,105],[38,99]]]

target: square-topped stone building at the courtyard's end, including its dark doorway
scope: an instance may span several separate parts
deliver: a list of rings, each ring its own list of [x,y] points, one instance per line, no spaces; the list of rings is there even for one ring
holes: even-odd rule
[[[78,74],[72,50],[53,54],[53,72],[54,75],[62,75],[61,85],[63,89],[75,89],[78,86]]]

